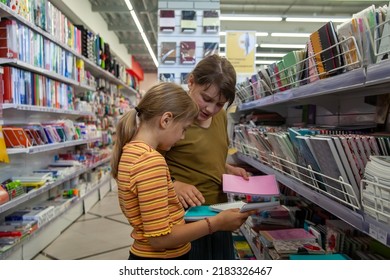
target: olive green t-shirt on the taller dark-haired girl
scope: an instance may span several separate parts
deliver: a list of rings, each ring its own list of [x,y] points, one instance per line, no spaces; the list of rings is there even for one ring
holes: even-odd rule
[[[205,204],[225,202],[222,174],[226,173],[229,146],[226,111],[213,116],[210,127],[191,125],[180,140],[165,153],[171,176],[192,184],[206,199]]]

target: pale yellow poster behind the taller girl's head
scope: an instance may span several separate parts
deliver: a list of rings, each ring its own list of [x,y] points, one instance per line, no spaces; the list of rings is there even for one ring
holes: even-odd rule
[[[226,32],[226,57],[238,74],[255,72],[255,53],[255,31]]]

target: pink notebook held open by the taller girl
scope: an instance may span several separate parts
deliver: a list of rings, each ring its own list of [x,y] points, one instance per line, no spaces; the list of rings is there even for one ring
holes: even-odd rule
[[[275,175],[258,175],[249,177],[223,174],[222,187],[226,193],[241,193],[261,196],[278,196],[279,187]]]

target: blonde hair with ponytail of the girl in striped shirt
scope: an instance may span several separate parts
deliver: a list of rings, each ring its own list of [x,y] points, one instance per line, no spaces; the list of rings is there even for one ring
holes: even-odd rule
[[[116,127],[116,141],[111,158],[111,175],[117,179],[123,147],[137,131],[136,116],[140,123],[171,112],[175,121],[193,121],[199,113],[198,106],[187,92],[175,83],[159,83],[151,87],[136,108],[124,114]]]

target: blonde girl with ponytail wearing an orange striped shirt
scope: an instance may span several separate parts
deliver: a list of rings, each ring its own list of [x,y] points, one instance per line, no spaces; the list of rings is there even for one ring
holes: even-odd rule
[[[156,149],[167,151],[184,139],[197,116],[196,103],[179,85],[160,83],[117,125],[111,166],[120,207],[133,227],[129,259],[188,259],[191,241],[235,230],[251,214],[234,209],[185,223],[167,164]]]

